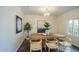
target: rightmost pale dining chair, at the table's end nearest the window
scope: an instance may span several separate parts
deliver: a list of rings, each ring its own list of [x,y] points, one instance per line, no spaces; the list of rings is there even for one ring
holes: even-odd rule
[[[59,44],[61,44],[61,47],[60,47],[60,50],[61,51],[72,51],[71,47],[72,47],[72,44],[71,44],[71,41],[72,39],[69,38],[69,37],[65,37],[63,38],[63,41],[59,41]],[[69,49],[68,49],[69,48]]]

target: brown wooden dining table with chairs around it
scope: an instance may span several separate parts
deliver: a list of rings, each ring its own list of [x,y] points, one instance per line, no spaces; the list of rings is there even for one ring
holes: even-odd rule
[[[46,48],[47,39],[49,39],[49,40],[57,39],[58,41],[60,41],[60,40],[62,41],[64,37],[65,37],[64,35],[60,35],[60,34],[50,35],[50,34],[46,34],[46,33],[33,33],[30,36],[30,40],[42,39],[42,47]]]

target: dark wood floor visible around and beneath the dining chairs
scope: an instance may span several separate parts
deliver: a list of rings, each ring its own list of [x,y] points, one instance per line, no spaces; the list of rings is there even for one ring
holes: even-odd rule
[[[22,43],[22,45],[20,46],[20,48],[17,50],[17,52],[29,52],[29,51],[30,51],[30,43],[29,43],[28,40],[25,39],[24,42]],[[42,48],[42,51],[43,52],[47,52],[48,51],[48,48],[46,48],[46,49]],[[51,52],[58,52],[56,50],[50,50],[50,51]],[[39,52],[39,51],[36,51],[36,52]],[[72,46],[71,48],[68,48],[66,50],[66,52],[79,52],[79,48],[78,47],[75,47],[75,46]]]

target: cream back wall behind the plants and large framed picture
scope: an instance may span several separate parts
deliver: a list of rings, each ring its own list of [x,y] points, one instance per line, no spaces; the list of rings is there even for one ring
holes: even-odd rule
[[[46,20],[47,22],[50,23],[51,29],[49,30],[50,32],[56,32],[56,17],[50,16],[50,17],[44,17],[40,15],[25,15],[25,23],[29,22],[32,26],[31,33],[37,32],[37,22],[39,20]]]

